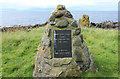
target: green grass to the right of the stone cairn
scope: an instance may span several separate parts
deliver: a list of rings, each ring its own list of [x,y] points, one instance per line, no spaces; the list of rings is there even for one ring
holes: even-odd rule
[[[118,77],[118,30],[82,28],[82,34],[98,67],[83,77]]]

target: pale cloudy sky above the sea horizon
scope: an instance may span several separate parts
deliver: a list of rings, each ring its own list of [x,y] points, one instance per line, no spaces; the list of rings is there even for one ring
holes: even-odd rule
[[[117,11],[119,0],[0,0],[0,11],[48,11],[65,5],[75,11]]]

